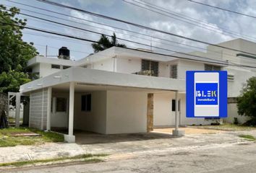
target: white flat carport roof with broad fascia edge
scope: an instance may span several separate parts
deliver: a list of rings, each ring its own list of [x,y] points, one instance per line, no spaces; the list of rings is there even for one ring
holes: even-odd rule
[[[61,70],[49,76],[30,81],[20,86],[20,92],[27,93],[49,86],[58,86],[76,82],[84,85],[121,86],[139,89],[158,89],[165,91],[185,91],[185,81],[155,76],[121,74],[111,71],[100,71],[82,67]]]

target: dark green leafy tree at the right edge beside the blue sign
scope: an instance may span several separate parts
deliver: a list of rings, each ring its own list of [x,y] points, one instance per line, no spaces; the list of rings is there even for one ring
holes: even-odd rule
[[[237,109],[239,115],[249,116],[250,121],[256,125],[256,77],[247,80],[242,89],[242,94],[237,98]]]

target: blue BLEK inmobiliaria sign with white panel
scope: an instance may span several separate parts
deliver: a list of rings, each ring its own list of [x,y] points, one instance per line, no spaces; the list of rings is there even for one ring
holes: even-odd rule
[[[227,117],[227,72],[187,71],[187,117]]]

